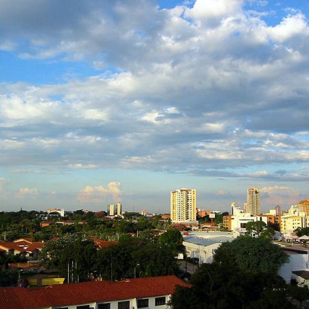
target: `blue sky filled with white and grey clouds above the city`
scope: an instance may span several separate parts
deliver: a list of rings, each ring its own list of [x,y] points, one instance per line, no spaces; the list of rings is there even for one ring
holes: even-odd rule
[[[18,4],[18,5],[17,5]],[[309,196],[307,0],[0,0],[0,210]]]

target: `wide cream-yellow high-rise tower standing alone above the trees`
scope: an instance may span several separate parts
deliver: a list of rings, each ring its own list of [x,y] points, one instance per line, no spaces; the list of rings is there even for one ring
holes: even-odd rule
[[[172,221],[196,221],[196,190],[181,189],[170,192]]]

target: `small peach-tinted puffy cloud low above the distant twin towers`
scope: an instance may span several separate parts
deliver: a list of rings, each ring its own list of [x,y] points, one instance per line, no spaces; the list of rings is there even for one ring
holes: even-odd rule
[[[80,203],[98,204],[107,201],[108,198],[113,198],[113,201],[117,203],[120,201],[121,195],[119,181],[112,181],[107,184],[107,187],[103,187],[102,185],[91,187],[87,185],[87,187],[80,190],[77,199]]]

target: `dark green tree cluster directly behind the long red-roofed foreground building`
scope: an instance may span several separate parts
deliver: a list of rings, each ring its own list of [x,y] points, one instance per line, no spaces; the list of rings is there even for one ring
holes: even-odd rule
[[[96,250],[91,240],[75,233],[48,242],[41,252],[41,261],[49,268],[59,269],[63,277],[73,282],[95,277],[119,280],[172,275],[179,273],[174,256],[181,243],[179,231],[171,229],[157,242],[128,235],[120,238],[118,244]]]

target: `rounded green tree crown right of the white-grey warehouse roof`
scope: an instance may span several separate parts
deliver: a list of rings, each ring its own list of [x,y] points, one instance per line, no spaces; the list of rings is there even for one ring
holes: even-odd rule
[[[279,267],[288,262],[288,255],[266,238],[240,236],[232,242],[222,243],[214,261],[237,265],[243,271],[252,273],[277,273]]]

